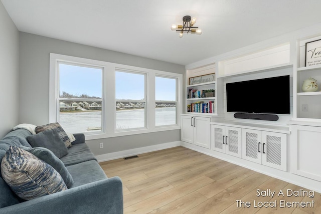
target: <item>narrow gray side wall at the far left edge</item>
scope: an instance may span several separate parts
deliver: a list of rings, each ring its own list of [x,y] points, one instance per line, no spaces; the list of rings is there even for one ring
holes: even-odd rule
[[[0,139],[18,124],[19,32],[0,2]]]

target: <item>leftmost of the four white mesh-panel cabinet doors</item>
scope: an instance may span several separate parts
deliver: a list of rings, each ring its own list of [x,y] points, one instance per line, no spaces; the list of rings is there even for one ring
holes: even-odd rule
[[[224,138],[224,139],[223,139]],[[215,151],[225,153],[225,126],[211,124],[211,147]]]

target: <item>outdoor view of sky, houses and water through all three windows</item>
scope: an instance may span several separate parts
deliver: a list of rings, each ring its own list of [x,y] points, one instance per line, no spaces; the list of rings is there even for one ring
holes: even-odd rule
[[[71,133],[103,131],[104,100],[99,67],[59,64],[59,123]],[[155,77],[155,100],[146,106],[146,74],[115,72],[115,130],[146,128],[147,108],[155,126],[177,124],[177,79]],[[107,118],[108,120],[108,118]]]

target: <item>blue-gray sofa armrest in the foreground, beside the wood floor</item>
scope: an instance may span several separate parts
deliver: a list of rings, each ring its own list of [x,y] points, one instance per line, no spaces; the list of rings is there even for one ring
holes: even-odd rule
[[[0,213],[123,213],[122,183],[111,177],[0,208]]]

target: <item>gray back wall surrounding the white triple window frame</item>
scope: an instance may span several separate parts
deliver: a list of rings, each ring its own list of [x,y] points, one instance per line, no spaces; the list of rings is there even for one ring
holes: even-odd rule
[[[76,35],[75,35],[76,36]],[[49,53],[101,60],[174,73],[185,66],[20,32],[19,122],[49,122]],[[95,155],[180,140],[180,130],[87,141]],[[104,148],[99,149],[99,142]]]

